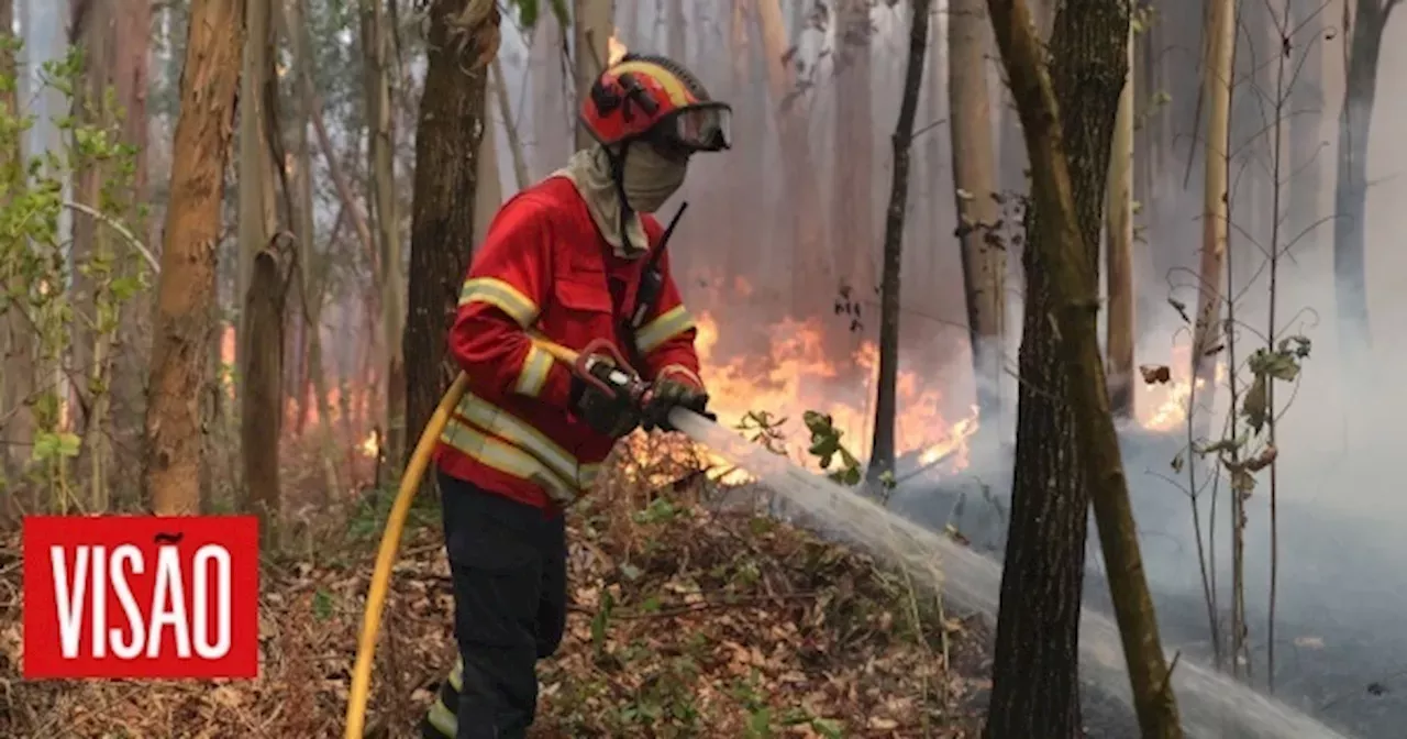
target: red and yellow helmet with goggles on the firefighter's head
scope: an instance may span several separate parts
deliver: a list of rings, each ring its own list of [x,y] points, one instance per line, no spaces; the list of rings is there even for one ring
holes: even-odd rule
[[[606,69],[581,106],[581,122],[606,146],[640,139],[687,153],[730,148],[732,114],[674,61],[635,53]]]

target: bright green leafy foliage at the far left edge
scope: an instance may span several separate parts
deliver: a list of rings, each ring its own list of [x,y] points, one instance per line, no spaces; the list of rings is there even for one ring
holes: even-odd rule
[[[136,149],[120,141],[121,111],[111,90],[94,99],[79,96],[84,62],[77,48],[62,59],[45,62],[39,70],[42,89],[79,103],[76,114],[53,118],[63,145],[25,155],[25,132],[35,121],[21,110],[0,110],[0,314],[20,315],[34,329],[34,394],[6,398],[24,404],[34,415],[31,483],[48,486],[52,507],[66,511],[70,503],[68,465],[79,455],[79,438],[70,424],[77,410],[65,408],[61,393],[65,377],[86,380],[86,421],[101,436],[101,407],[107,393],[113,349],[121,310],[148,287],[142,258],[111,229],[124,218],[141,220],[144,210],[129,200],[136,172]],[[0,87],[14,89],[13,77],[0,77]],[[42,90],[41,90],[42,93]],[[86,206],[98,217],[75,213],[93,228],[91,244],[77,253],[61,229],[65,182],[80,175],[96,177],[97,201]],[[80,221],[82,222],[82,221]],[[77,339],[91,342],[90,362],[70,366]],[[0,408],[0,415],[15,410]],[[100,490],[100,486],[94,486]],[[94,498],[98,495],[96,494]],[[98,503],[97,500],[94,503]]]

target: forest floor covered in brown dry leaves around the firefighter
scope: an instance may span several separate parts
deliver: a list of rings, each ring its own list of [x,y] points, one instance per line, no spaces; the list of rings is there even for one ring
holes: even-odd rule
[[[716,510],[698,487],[613,491],[570,517],[571,614],[540,664],[533,736],[976,736],[991,667],[979,617],[944,615],[902,573]],[[20,548],[3,542],[0,736],[340,736],[384,512],[366,504],[266,557],[250,681],[23,681]],[[436,518],[416,510],[395,567],[369,721],[380,736],[416,736],[453,663]]]

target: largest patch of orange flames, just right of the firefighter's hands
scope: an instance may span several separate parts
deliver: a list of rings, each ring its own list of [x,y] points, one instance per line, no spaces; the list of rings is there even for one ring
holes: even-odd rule
[[[744,280],[736,280],[736,291],[751,291]],[[749,422],[753,411],[765,411],[774,419],[784,419],[778,429],[792,459],[816,466],[805,453],[809,434],[802,425],[805,411],[829,414],[841,443],[857,457],[870,450],[872,434],[875,377],[879,349],[872,342],[861,343],[847,362],[861,370],[865,381],[839,381],[837,363],[825,353],[820,322],[816,320],[782,320],[767,328],[768,348],[761,355],[723,359],[719,352],[718,322],[709,312],[696,318],[695,348],[709,387],[709,410],[719,422],[746,429],[749,436],[760,435],[756,422]],[[971,415],[948,422],[943,417],[943,393],[913,372],[900,367],[896,387],[899,415],[895,418],[895,445],[899,455],[916,455],[920,466],[946,463],[948,470],[961,470],[968,463],[968,441],[976,432],[976,408]],[[729,472],[727,474],[741,476]],[[744,477],[726,477],[725,481]]]

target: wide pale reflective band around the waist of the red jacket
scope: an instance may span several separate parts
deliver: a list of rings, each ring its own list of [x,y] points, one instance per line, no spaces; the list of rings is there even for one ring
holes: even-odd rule
[[[575,501],[601,470],[473,393],[464,393],[440,441],[498,472],[532,480],[561,504]]]

